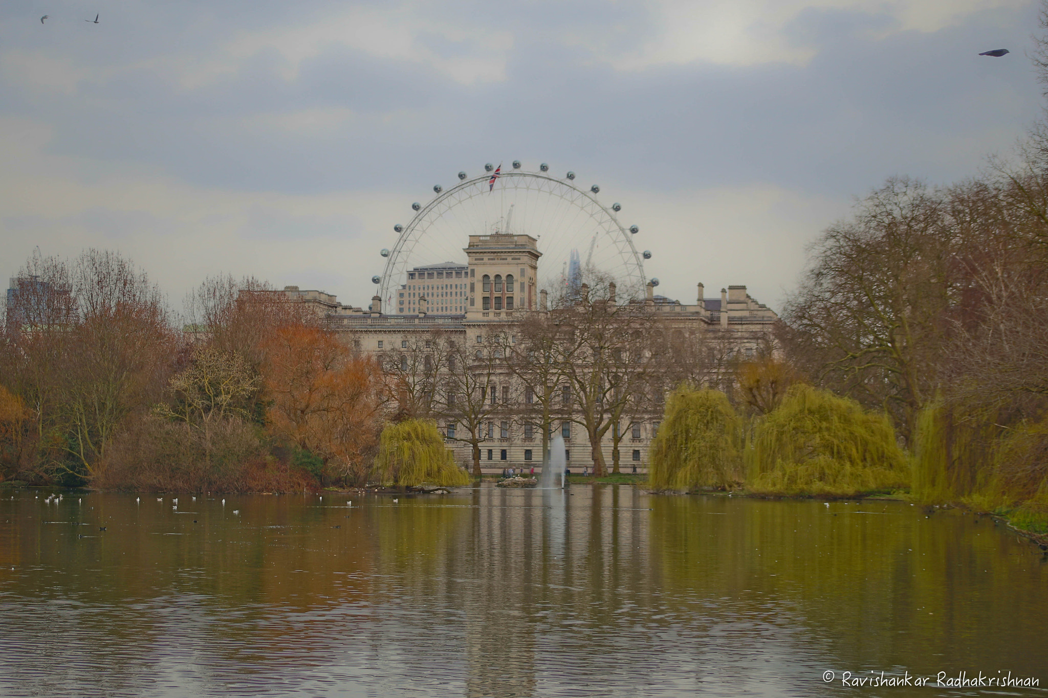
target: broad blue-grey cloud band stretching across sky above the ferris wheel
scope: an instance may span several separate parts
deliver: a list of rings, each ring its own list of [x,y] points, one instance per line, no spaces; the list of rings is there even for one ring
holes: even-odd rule
[[[379,62],[348,48],[304,61],[289,82],[281,76],[283,59],[263,51],[234,76],[196,90],[151,84],[143,70],[65,100],[77,109],[63,110],[56,98],[37,116],[59,126],[56,153],[157,163],[206,186],[388,185],[408,162],[432,179],[511,149],[515,156],[560,156],[597,172],[629,162],[618,176],[633,186],[673,172],[673,183],[682,186],[756,176],[842,195],[896,171],[949,179],[959,162],[943,157],[947,143],[999,147],[994,138],[1002,123],[1018,133],[1036,113],[1038,91],[1021,61],[969,60],[970,46],[985,43],[978,17],[883,40],[864,29],[886,22],[803,13],[790,35],[820,45],[804,67],[697,64],[635,73],[594,64],[584,47],[529,43],[521,32],[508,80],[468,87],[427,66]],[[1021,23],[1009,31],[1001,41],[1026,41]],[[444,44],[437,48],[451,50]],[[34,111],[27,102],[21,107]],[[330,135],[264,132],[249,121],[260,113],[323,108],[346,108],[359,118]],[[971,166],[982,153],[962,159]]]

